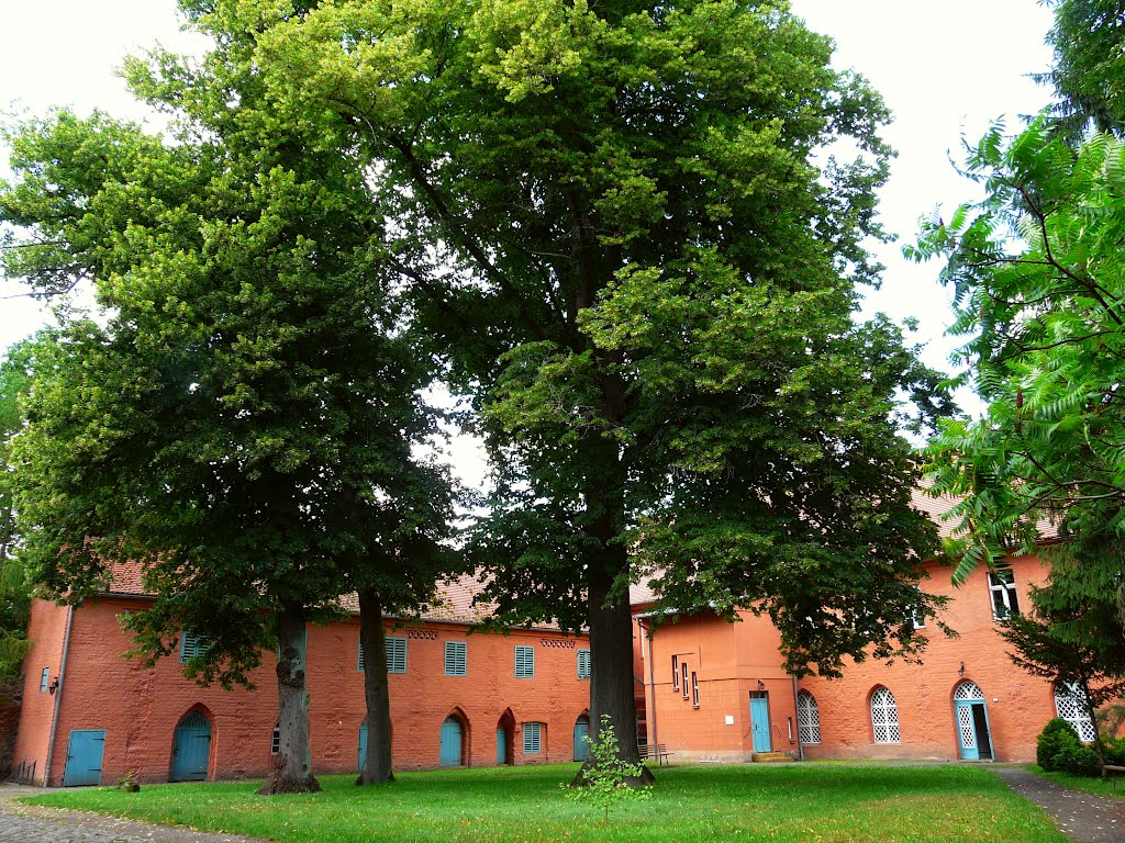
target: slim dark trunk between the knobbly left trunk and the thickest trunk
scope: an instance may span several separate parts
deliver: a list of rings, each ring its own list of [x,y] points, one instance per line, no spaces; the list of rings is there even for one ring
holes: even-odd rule
[[[374,589],[359,590],[359,640],[363,645],[363,696],[367,700],[367,759],[357,785],[394,781],[390,771],[390,688],[382,604]]]

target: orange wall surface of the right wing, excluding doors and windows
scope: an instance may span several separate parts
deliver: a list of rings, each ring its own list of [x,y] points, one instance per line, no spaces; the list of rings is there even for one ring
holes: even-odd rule
[[[1036,558],[1008,560],[1023,610],[1028,590],[1046,579]],[[1055,716],[1051,685],[1016,668],[996,632],[987,572],[979,570],[960,588],[948,569],[930,570],[922,588],[951,598],[943,620],[956,633],[948,637],[930,623],[929,645],[921,663],[848,662],[844,678],[804,678],[800,688],[813,695],[820,717],[820,742],[803,746],[810,759],[944,759],[960,758],[953,694],[964,680],[983,691],[991,742],[998,761],[1033,761],[1035,736]],[[767,618],[740,615],[730,624],[713,616],[665,622],[652,635],[655,682],[649,688],[649,728],[677,759],[740,760],[753,749],[749,696],[764,690],[770,701],[774,751],[796,751],[796,713],[792,678],[781,668],[780,643]],[[644,622],[642,622],[644,625]],[[700,679],[700,705],[673,688],[672,656],[688,663]],[[962,673],[963,669],[963,673]],[[646,679],[648,665],[644,665]],[[759,686],[760,682],[760,686]],[[878,687],[894,695],[900,741],[876,743],[871,695]],[[655,705],[655,713],[652,707]],[[732,719],[734,723],[728,723]]]

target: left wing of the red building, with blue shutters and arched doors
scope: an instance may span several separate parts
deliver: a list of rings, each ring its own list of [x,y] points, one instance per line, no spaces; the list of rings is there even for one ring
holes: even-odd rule
[[[388,624],[397,769],[570,761],[588,718],[590,649],[550,628],[474,633],[471,580],[442,589],[421,624]],[[173,656],[145,669],[119,616],[144,606],[136,578],[75,608],[36,600],[14,778],[38,785],[263,777],[277,749],[274,664],[256,690],[201,688]],[[205,631],[201,631],[205,632]],[[366,751],[358,617],[308,631],[313,769],[354,772]],[[181,653],[197,645],[181,641]],[[584,744],[577,744],[579,749]]]

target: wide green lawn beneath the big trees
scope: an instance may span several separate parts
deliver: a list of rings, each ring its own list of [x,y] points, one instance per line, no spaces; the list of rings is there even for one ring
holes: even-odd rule
[[[402,773],[360,789],[321,779],[316,795],[254,796],[256,782],[53,792],[34,805],[94,810],[286,843],[540,843],[542,841],[796,841],[1065,843],[1038,808],[975,767],[674,767],[652,798],[598,825],[559,789],[574,765]]]

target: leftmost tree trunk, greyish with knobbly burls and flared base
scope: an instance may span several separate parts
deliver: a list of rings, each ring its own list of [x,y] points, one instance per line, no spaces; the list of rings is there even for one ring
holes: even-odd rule
[[[278,727],[281,745],[273,772],[258,791],[272,794],[315,794],[321,789],[313,776],[313,753],[308,743],[308,687],[305,664],[308,641],[305,616],[282,611],[278,616]]]

